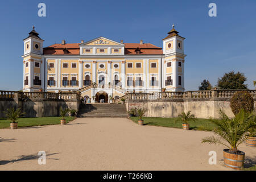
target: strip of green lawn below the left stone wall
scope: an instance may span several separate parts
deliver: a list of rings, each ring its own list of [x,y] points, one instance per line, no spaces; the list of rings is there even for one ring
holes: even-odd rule
[[[59,125],[61,117],[40,117],[40,118],[19,118],[18,127]],[[75,119],[75,117],[65,117],[66,123]],[[0,129],[10,127],[10,120],[0,119]]]

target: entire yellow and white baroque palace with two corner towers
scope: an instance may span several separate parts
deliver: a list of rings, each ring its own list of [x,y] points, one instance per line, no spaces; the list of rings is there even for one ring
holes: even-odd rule
[[[105,102],[129,93],[184,91],[184,39],[172,25],[163,49],[151,43],[115,42],[104,37],[53,44],[33,30],[23,40],[23,91],[80,91]]]

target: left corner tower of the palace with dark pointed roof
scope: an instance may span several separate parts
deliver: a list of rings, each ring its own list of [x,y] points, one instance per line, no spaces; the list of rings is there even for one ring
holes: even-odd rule
[[[44,85],[44,63],[43,42],[39,37],[35,27],[28,33],[28,37],[23,39],[24,54],[23,54],[23,91],[32,92],[42,90]]]

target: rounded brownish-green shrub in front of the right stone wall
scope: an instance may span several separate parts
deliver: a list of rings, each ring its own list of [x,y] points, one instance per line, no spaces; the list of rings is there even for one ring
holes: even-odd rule
[[[236,92],[230,101],[230,107],[234,115],[238,114],[241,109],[245,110],[247,113],[253,111],[253,97],[247,91]]]

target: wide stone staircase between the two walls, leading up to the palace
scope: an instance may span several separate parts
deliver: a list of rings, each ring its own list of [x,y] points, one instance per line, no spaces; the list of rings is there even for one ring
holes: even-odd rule
[[[81,104],[77,117],[83,118],[127,118],[128,113],[124,104]]]

